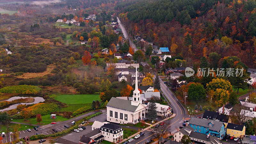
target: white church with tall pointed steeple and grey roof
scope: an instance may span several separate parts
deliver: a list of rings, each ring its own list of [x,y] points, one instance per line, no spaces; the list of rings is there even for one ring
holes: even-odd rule
[[[107,121],[119,124],[138,123],[142,118],[145,118],[146,112],[146,107],[141,103],[138,78],[136,76],[132,101],[112,97],[107,104]]]

